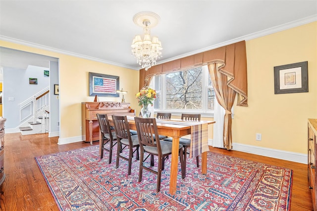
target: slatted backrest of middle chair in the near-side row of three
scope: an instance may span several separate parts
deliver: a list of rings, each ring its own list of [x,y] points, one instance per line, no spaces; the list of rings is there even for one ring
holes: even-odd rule
[[[115,134],[117,139],[128,139],[131,141],[131,134],[129,129],[129,123],[127,116],[112,115],[112,121],[114,125]],[[131,144],[131,143],[130,143]]]

